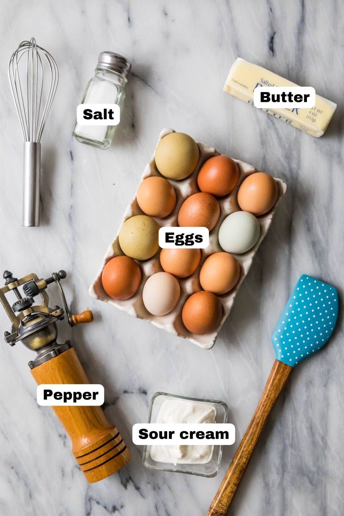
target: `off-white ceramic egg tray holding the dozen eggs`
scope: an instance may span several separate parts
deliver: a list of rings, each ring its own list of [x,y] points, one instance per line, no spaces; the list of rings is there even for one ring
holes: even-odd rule
[[[158,142],[160,141],[161,138],[163,138],[167,134],[173,133],[173,132],[174,131],[172,129],[162,130],[160,133]],[[160,226],[177,226],[178,225],[177,216],[178,216],[179,208],[181,207],[182,203],[185,201],[185,199],[187,197],[189,197],[193,193],[200,191],[198,188],[198,185],[197,185],[197,175],[198,175],[198,172],[199,172],[201,166],[204,164],[204,162],[208,158],[210,158],[212,156],[217,156],[220,154],[214,148],[209,147],[208,145],[206,145],[204,143],[198,143],[198,146],[200,149],[200,159],[199,159],[198,165],[196,166],[196,168],[192,172],[192,174],[188,178],[186,178],[182,181],[169,180],[176,191],[176,205],[175,205],[173,212],[168,217],[165,217],[163,219],[158,219],[158,218],[154,217]],[[249,251],[247,251],[243,254],[234,254],[234,256],[236,257],[236,259],[238,260],[238,262],[240,264],[240,269],[241,269],[240,278],[239,278],[239,281],[236,284],[236,286],[230,292],[228,292],[227,294],[223,294],[222,296],[218,296],[221,301],[222,307],[223,307],[223,316],[222,316],[222,319],[221,319],[221,322],[219,324],[217,331],[214,333],[208,333],[206,335],[195,335],[195,334],[190,333],[185,328],[183,321],[182,321],[182,309],[183,309],[184,303],[191,294],[202,290],[200,281],[199,281],[201,266],[203,265],[205,259],[210,254],[213,254],[218,251],[223,251],[221,249],[221,247],[219,245],[219,241],[218,241],[218,232],[219,232],[220,225],[221,225],[222,221],[226,218],[227,215],[229,215],[232,212],[236,212],[236,211],[240,210],[240,207],[237,203],[238,188],[239,188],[240,184],[242,183],[242,181],[248,175],[252,174],[253,172],[257,172],[257,170],[252,165],[248,165],[247,163],[243,163],[239,160],[235,160],[235,161],[237,162],[237,164],[239,166],[239,171],[240,171],[238,184],[228,196],[218,199],[219,204],[220,204],[220,210],[221,210],[220,217],[219,217],[219,220],[218,220],[215,228],[209,234],[209,246],[206,249],[201,249],[201,254],[202,254],[201,262],[200,262],[200,265],[198,266],[198,268],[195,270],[195,272],[188,278],[178,280],[179,285],[181,286],[181,296],[179,298],[179,301],[178,301],[176,307],[174,308],[174,310],[172,310],[172,312],[170,312],[167,315],[163,315],[163,316],[152,315],[145,309],[143,301],[142,301],[142,289],[143,289],[143,285],[144,285],[146,279],[149,276],[151,276],[152,274],[154,274],[155,272],[160,272],[163,270],[160,265],[160,260],[159,260],[160,249],[150,260],[145,260],[145,261],[137,260],[137,263],[140,265],[141,271],[142,271],[142,281],[141,281],[140,287],[139,287],[137,293],[135,294],[135,296],[133,296],[130,299],[127,299],[126,301],[117,301],[117,300],[111,299],[105,293],[103,285],[102,285],[103,268],[104,268],[105,264],[111,258],[113,258],[114,256],[123,254],[123,252],[120,248],[120,245],[119,245],[119,241],[118,241],[119,231],[117,232],[116,236],[114,237],[110,246],[108,247],[108,249],[105,253],[103,262],[101,264],[101,268],[100,268],[99,272],[97,273],[97,276],[96,276],[95,280],[93,281],[92,285],[90,286],[90,290],[89,290],[90,295],[96,299],[100,299],[101,301],[105,301],[106,303],[112,304],[114,307],[119,308],[120,310],[123,310],[124,312],[127,312],[130,315],[134,315],[135,317],[138,317],[140,319],[144,319],[148,322],[151,322],[158,328],[168,331],[169,333],[173,333],[174,335],[178,335],[179,337],[186,338],[193,344],[196,344],[204,349],[210,349],[212,346],[214,346],[218,332],[220,331],[220,329],[223,325],[223,322],[225,321],[227,315],[230,313],[230,311],[232,309],[234,299],[235,299],[235,296],[237,295],[240,285],[251,267],[253,257],[256,254],[261,241],[263,240],[263,238],[265,237],[265,235],[267,234],[267,232],[269,230],[276,206],[280,202],[281,198],[283,197],[283,195],[287,189],[287,186],[284,181],[282,181],[281,179],[275,178],[276,183],[279,188],[279,194],[277,197],[277,201],[276,201],[275,205],[273,206],[273,208],[270,210],[270,212],[268,212],[266,215],[257,217],[259,224],[260,224],[260,237],[259,237],[256,245],[252,249],[250,249]],[[154,155],[153,155],[151,161],[149,162],[149,164],[146,165],[146,167],[143,171],[143,174],[142,174],[141,181],[143,181],[145,178],[148,178],[151,175],[160,175],[160,173],[158,172],[156,165],[155,165]],[[128,207],[124,213],[120,227],[122,226],[122,224],[125,220],[127,220],[128,218],[130,218],[134,215],[144,215],[144,213],[142,212],[142,210],[140,209],[140,207],[137,203],[136,197],[128,205]]]

